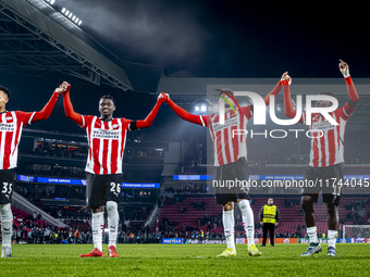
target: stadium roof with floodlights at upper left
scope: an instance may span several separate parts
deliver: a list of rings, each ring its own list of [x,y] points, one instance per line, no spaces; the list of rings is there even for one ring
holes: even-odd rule
[[[0,70],[132,89],[116,56],[41,0],[0,0]]]

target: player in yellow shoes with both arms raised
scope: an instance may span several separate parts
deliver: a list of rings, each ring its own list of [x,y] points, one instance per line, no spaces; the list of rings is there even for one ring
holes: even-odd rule
[[[264,98],[264,103],[268,105],[270,96],[276,97],[281,89],[281,81],[279,81],[275,88]],[[219,104],[237,104],[233,97],[233,91],[230,89],[219,90]],[[247,135],[243,133],[243,135],[233,136],[232,131],[236,129],[247,129],[247,124],[254,114],[254,105],[234,109],[230,104],[225,104],[225,121],[222,125],[219,122],[220,116],[217,114],[190,114],[176,105],[171,99],[169,99],[166,103],[181,118],[209,128],[213,140],[214,180],[234,181],[237,179],[243,181],[249,179],[247,166]],[[227,242],[227,248],[218,256],[236,255],[234,242],[234,202],[237,202],[242,211],[244,228],[248,238],[248,253],[254,256],[261,254],[255,244],[255,221],[249,199],[248,188],[234,187],[233,189],[226,188],[225,190],[225,188],[221,188],[221,186],[215,187],[215,201],[218,204],[223,205],[223,228]]]

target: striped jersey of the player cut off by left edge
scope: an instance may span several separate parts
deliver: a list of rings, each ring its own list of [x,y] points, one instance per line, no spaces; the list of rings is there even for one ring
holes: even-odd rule
[[[0,115],[0,169],[16,167],[22,129],[32,124],[36,112],[3,112]]]

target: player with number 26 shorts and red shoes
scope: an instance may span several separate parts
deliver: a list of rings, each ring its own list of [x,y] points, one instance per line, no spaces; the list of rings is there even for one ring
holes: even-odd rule
[[[150,127],[157,116],[159,106],[166,100],[164,93],[159,95],[157,104],[143,121],[114,118],[114,99],[103,96],[99,101],[99,116],[82,115],[74,112],[70,100],[71,85],[63,93],[66,117],[84,128],[88,140],[88,158],[86,164],[86,200],[92,210],[94,250],[86,256],[104,256],[102,251],[102,229],[104,226],[104,205],[108,212],[109,256],[118,257],[116,234],[119,226],[119,193],[122,182],[122,159],[126,143],[126,133]]]

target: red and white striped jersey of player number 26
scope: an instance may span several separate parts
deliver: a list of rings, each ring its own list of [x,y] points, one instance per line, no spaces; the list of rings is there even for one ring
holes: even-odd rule
[[[81,127],[86,129],[89,146],[85,171],[99,175],[121,174],[126,133],[132,121],[113,118],[104,122],[92,115],[82,115],[82,119]]]

